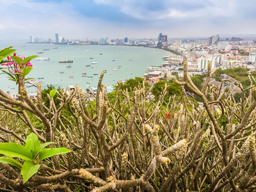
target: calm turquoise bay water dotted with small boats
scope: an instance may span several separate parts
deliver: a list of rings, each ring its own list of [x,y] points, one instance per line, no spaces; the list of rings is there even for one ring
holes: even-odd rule
[[[26,42],[4,42],[0,41],[0,49],[13,46],[17,49],[17,54],[22,56],[35,55],[42,58],[50,58],[50,61],[31,61],[33,70],[26,77],[36,78],[37,81],[44,81],[42,88],[47,88],[47,84],[53,84],[60,88],[69,85],[79,84],[80,88],[86,89],[89,86],[97,86],[100,72],[107,70],[103,77],[102,84],[112,86],[118,79],[130,79],[141,77],[145,73],[146,67],[161,65],[163,56],[170,56],[172,53],[160,49],[147,47],[128,47],[113,45],[55,45],[55,44],[26,44]],[[58,49],[53,49],[58,47]],[[49,49],[44,51],[44,49]],[[93,59],[90,59],[93,58]],[[73,63],[59,63],[59,60],[70,59]],[[132,61],[129,61],[132,59]],[[112,61],[115,60],[115,61]],[[92,64],[96,61],[97,64]],[[67,68],[67,65],[72,67]],[[91,65],[86,67],[86,65]],[[119,65],[122,67],[118,68]],[[93,68],[92,68],[93,67]],[[118,68],[117,71],[113,71]],[[63,71],[64,73],[60,73]],[[87,76],[82,77],[82,73]],[[99,75],[93,75],[98,73]],[[6,74],[0,74],[0,89],[8,91],[10,86],[12,95],[17,94],[17,85],[13,81],[8,81]],[[73,78],[70,78],[73,76]],[[38,79],[44,77],[44,79]],[[14,89],[13,89],[14,88]],[[36,87],[30,87],[28,92],[35,92]]]

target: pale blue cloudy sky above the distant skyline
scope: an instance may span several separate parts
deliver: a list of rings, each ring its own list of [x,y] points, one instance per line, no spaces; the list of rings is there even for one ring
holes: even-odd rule
[[[255,34],[255,0],[0,0],[0,40]]]

